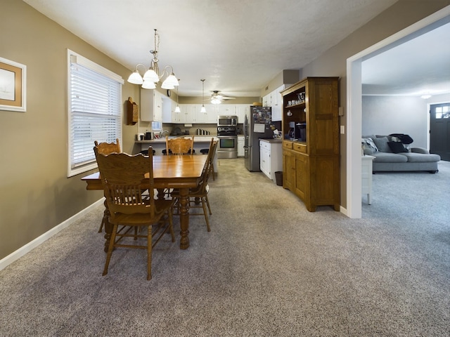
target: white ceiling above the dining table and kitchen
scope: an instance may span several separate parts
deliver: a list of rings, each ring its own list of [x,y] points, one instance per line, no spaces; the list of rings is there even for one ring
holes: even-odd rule
[[[130,73],[138,63],[150,65],[158,29],[160,68],[173,66],[180,95],[202,95],[200,79],[206,79],[205,95],[219,90],[242,97],[259,96],[282,70],[301,69],[397,0],[24,1]],[[393,57],[400,65],[407,61]],[[386,61],[373,67],[379,62]],[[368,84],[380,82],[375,74],[365,72]]]

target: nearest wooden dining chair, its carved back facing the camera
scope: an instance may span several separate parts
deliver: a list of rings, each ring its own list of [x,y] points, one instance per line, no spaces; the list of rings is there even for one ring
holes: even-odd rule
[[[147,250],[147,279],[151,279],[153,247],[167,231],[175,242],[172,226],[174,201],[155,199],[153,193],[144,199],[141,193],[142,190],[154,190],[152,149],[149,148],[148,157],[140,153],[105,155],[99,153],[97,147],[94,147],[94,152],[110,211],[109,222],[113,224],[103,276],[108,274],[113,250],[125,247]],[[137,234],[136,231],[130,234],[130,230],[136,227],[146,227],[147,234]],[[146,244],[137,241],[139,238],[146,238]]]

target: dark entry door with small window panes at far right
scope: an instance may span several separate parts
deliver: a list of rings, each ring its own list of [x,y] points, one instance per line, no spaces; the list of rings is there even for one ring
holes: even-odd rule
[[[450,161],[450,103],[430,105],[430,152]]]

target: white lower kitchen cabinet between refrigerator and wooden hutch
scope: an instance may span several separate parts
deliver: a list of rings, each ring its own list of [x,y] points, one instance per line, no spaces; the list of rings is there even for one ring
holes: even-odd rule
[[[259,169],[276,182],[275,172],[283,171],[283,151],[281,141],[259,140]]]

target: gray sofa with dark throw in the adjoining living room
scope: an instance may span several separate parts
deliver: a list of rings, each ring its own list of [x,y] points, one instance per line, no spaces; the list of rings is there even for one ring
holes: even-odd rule
[[[363,136],[361,146],[364,154],[375,157],[373,172],[380,171],[428,171],[437,173],[439,154],[430,154],[423,147],[410,147],[413,142],[408,135]],[[403,139],[403,141],[402,141]]]

